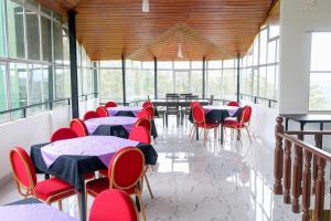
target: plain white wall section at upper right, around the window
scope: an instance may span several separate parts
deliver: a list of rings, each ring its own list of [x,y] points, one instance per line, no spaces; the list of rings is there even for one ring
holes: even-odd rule
[[[331,31],[331,1],[281,0],[279,112],[309,110],[311,31]]]

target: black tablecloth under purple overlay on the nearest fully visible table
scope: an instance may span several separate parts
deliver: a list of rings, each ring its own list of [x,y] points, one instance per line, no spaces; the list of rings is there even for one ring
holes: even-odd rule
[[[49,173],[58,177],[81,191],[84,188],[84,177],[86,172],[94,172],[107,167],[95,156],[73,156],[63,155],[58,157],[54,164],[47,168],[41,154],[41,148],[46,144],[33,145],[31,147],[31,159],[38,173]],[[158,154],[151,145],[139,144],[137,146],[145,156],[146,164],[156,165]]]

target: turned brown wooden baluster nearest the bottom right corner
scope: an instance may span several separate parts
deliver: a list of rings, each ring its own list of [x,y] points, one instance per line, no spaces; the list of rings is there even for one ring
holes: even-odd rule
[[[322,218],[322,211],[324,207],[324,169],[325,169],[325,160],[321,157],[318,157],[317,160],[318,166],[318,178],[316,180],[316,198],[314,198],[314,220],[320,221]]]

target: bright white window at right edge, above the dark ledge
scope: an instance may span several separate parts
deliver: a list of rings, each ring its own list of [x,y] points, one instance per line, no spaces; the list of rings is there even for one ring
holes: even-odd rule
[[[310,59],[310,110],[331,110],[331,33],[312,33]]]

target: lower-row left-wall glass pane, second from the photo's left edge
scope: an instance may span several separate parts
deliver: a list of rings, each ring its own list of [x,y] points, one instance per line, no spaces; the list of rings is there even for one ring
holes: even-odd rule
[[[10,96],[11,107],[24,107],[28,105],[28,72],[26,64],[10,63]],[[22,112],[12,114],[12,118],[22,117]]]

